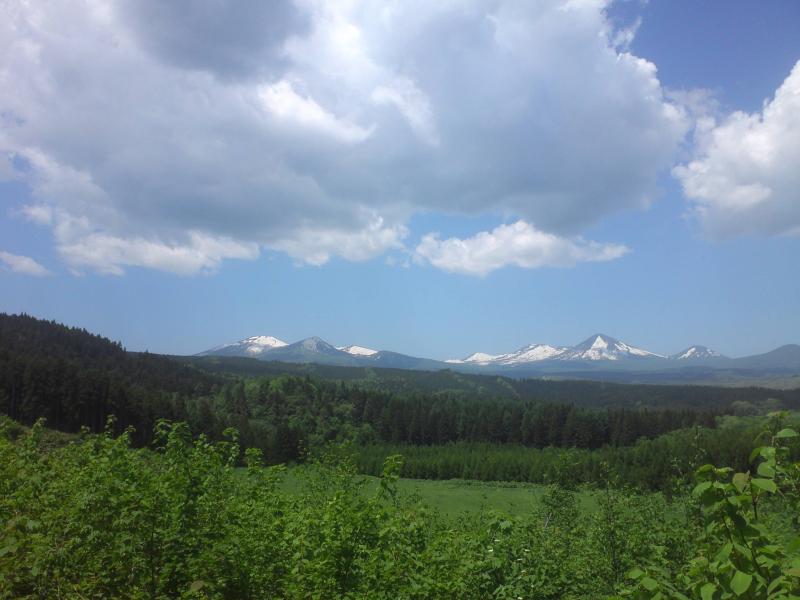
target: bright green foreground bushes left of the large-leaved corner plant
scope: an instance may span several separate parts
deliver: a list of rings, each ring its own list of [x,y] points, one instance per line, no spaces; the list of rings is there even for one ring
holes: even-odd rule
[[[582,514],[573,492],[553,486],[528,514],[452,521],[398,491],[397,456],[365,493],[350,452],[335,447],[304,469],[298,493],[284,493],[282,468],[262,467],[257,450],[235,467],[233,431],[211,442],[162,421],[153,449],[137,450],[113,423],[55,448],[41,445],[41,424],[16,439],[8,429],[7,598],[587,597],[613,592],[653,540],[652,519],[668,531],[672,518],[661,496],[615,491],[613,514]],[[613,557],[609,526],[626,540]]]

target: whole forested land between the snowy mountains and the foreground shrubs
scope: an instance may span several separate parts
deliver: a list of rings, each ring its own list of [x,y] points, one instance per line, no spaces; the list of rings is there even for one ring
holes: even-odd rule
[[[209,364],[214,372],[201,368]],[[226,371],[231,364],[234,372]],[[408,457],[405,475],[425,478],[596,481],[605,462],[628,483],[659,487],[676,461],[684,471],[690,467],[694,434],[678,430],[710,431],[722,414],[792,407],[798,396],[448,371],[309,367],[311,376],[283,373],[287,365],[274,363],[258,363],[252,373],[241,365],[249,361],[126,352],[83,330],[0,316],[0,412],[25,424],[44,418],[67,432],[101,431],[114,415],[116,431],[133,427],[139,445],[151,440],[159,419],[185,421],[215,440],[234,427],[270,464],[351,441],[362,449],[365,472],[377,472],[394,452]],[[669,432],[678,433],[664,437]],[[720,432],[706,434],[699,445],[739,465],[750,441]],[[576,450],[569,456],[549,450],[557,448]]]

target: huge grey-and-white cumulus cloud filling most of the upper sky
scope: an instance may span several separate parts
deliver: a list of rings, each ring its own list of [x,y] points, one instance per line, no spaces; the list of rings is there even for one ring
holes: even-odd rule
[[[568,245],[686,130],[598,0],[245,5],[4,4],[0,174],[73,268],[364,260],[418,212]]]

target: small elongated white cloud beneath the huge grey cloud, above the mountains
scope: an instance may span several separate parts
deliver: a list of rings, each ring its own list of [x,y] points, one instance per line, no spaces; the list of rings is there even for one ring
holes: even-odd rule
[[[572,267],[581,262],[614,260],[626,252],[625,246],[559,237],[524,221],[463,240],[427,235],[416,249],[417,257],[433,266],[465,275],[486,275],[509,265],[525,269]]]

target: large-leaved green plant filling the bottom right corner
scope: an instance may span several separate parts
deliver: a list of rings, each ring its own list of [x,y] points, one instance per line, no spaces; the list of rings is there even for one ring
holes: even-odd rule
[[[692,494],[704,525],[694,558],[678,572],[635,568],[639,598],[800,597],[800,463],[790,460],[798,433],[774,413],[767,443],[750,455],[751,469],[707,464]],[[791,518],[787,520],[785,517]],[[777,525],[777,527],[776,527]]]

